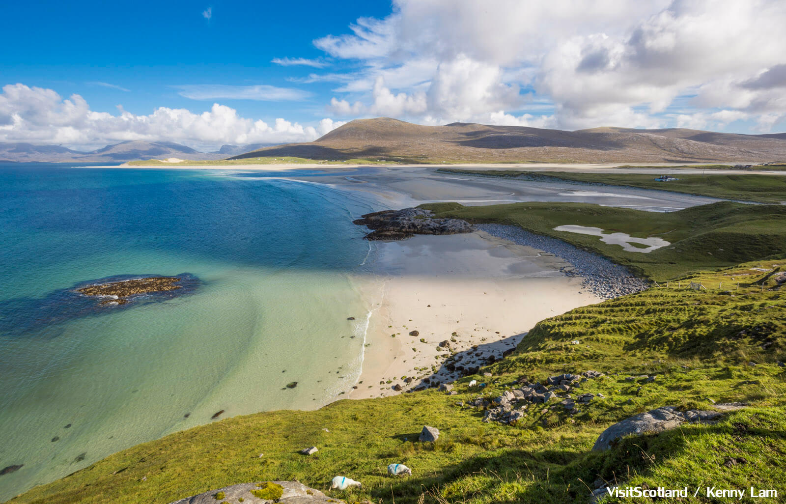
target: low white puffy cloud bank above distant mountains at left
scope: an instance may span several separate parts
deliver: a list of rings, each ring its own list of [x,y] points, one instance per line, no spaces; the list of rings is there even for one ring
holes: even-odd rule
[[[331,119],[317,126],[284,119],[268,124],[218,103],[201,113],[159,107],[146,116],[122,108],[114,115],[91,111],[79,94],[64,99],[54,90],[24,84],[4,86],[0,94],[0,142],[97,147],[126,140],[167,140],[207,149],[223,143],[308,142],[341,124]]]

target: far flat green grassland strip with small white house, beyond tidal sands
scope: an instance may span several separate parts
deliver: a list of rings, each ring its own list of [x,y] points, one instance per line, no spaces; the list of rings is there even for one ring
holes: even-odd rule
[[[728,168],[728,166],[724,166]],[[525,180],[564,180],[586,182],[608,186],[640,187],[659,189],[675,193],[689,193],[724,200],[756,201],[777,203],[786,201],[786,177],[777,175],[672,175],[679,180],[656,182],[660,174],[635,173],[577,173],[575,171],[517,171],[517,170],[460,170],[440,168],[444,173],[482,175],[485,177],[523,178]]]

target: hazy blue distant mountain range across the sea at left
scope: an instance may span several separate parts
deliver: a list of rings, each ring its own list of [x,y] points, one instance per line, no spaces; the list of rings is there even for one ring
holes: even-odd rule
[[[220,160],[229,156],[261,149],[270,144],[222,145],[211,153],[200,153],[173,142],[128,141],[107,145],[90,152],[79,152],[61,145],[33,145],[30,143],[0,142],[0,161],[16,162],[85,162],[123,163],[132,160],[167,159]]]

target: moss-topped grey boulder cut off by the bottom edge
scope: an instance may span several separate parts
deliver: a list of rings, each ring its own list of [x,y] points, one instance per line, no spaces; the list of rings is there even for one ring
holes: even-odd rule
[[[237,504],[240,502],[238,498],[243,498],[243,504],[270,504],[270,502],[278,502],[279,504],[321,504],[323,502],[346,504],[342,500],[328,497],[316,488],[309,488],[298,481],[271,481],[270,483],[283,487],[283,494],[276,501],[259,498],[251,493],[252,490],[259,490],[259,485],[264,485],[265,483],[267,482],[263,481],[259,484],[241,483],[231,487],[219,488],[218,490],[206,491],[200,495],[193,495],[193,497],[182,498],[170,504],[220,504],[220,502]],[[216,498],[216,495],[220,494],[223,494],[222,498]]]

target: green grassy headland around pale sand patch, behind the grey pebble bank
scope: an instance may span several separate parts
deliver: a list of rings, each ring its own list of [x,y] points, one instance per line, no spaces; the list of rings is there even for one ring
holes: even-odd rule
[[[679,212],[655,213],[582,203],[515,203],[465,207],[457,203],[424,204],[441,217],[521,226],[607,256],[657,281],[691,271],[727,267],[786,253],[786,205],[750,205],[721,201]],[[578,224],[661,237],[671,245],[653,252],[626,252],[600,237],[555,231]]]

